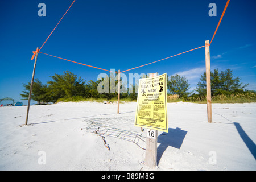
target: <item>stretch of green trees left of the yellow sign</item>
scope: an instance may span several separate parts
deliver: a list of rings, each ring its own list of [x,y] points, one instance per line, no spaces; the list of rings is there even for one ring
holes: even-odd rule
[[[34,81],[31,98],[37,101],[38,104],[54,103],[63,98],[68,99],[74,97],[106,98],[107,100],[117,98],[117,93],[98,93],[97,88],[101,80],[85,82],[81,77],[69,71],[63,72],[63,75],[55,74],[50,76],[50,78],[51,81],[47,81],[47,84],[42,84],[39,79],[35,79]],[[118,81],[115,81],[115,84],[117,84],[117,82]],[[22,100],[28,100],[30,85],[31,82],[23,84],[24,90],[20,93]],[[134,94],[129,94],[129,96],[128,94],[121,94],[121,98],[124,97],[129,97],[131,100],[135,98]]]

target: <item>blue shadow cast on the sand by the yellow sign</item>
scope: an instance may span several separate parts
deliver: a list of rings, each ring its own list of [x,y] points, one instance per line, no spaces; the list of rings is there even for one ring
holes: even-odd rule
[[[168,146],[180,149],[187,132],[176,127],[176,129],[169,128],[168,133],[163,132],[158,136],[158,143],[160,143],[157,156],[158,164]]]

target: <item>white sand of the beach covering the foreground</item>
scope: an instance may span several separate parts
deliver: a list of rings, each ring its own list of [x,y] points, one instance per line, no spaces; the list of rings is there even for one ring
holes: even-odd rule
[[[212,107],[207,123],[205,104],[167,104],[158,170],[256,170],[256,104]],[[146,130],[134,126],[136,102],[120,108],[118,115],[117,105],[97,102],[31,106],[31,125],[20,127],[27,106],[0,107],[0,170],[142,169]],[[98,127],[110,150],[92,133]]]

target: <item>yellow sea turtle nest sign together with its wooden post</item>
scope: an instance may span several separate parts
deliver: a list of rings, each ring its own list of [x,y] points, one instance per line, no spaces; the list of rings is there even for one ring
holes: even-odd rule
[[[147,128],[145,167],[157,168],[158,130],[168,132],[167,74],[139,80],[135,126]]]

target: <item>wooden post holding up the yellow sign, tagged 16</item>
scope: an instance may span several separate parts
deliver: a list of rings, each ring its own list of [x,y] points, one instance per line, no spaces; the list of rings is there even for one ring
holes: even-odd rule
[[[158,73],[150,73],[149,77],[153,78],[158,76]],[[151,129],[148,129],[149,132]],[[158,167],[157,164],[157,154],[158,154],[158,130],[151,130],[154,132],[155,138],[146,139],[146,153],[145,153],[145,166],[149,169],[156,169]]]

